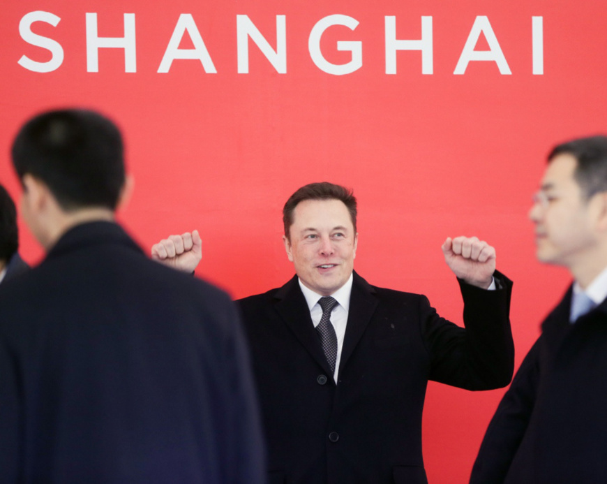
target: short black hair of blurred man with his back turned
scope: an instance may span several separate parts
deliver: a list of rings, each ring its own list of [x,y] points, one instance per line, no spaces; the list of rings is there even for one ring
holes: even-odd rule
[[[40,179],[63,210],[115,210],[125,170],[122,136],[110,119],[80,109],[45,112],[17,133],[12,156],[20,179]]]

